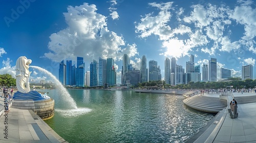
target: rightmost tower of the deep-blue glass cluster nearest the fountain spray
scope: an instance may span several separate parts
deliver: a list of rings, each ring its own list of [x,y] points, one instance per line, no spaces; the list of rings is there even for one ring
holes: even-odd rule
[[[84,86],[84,62],[83,57],[77,57],[76,86]]]

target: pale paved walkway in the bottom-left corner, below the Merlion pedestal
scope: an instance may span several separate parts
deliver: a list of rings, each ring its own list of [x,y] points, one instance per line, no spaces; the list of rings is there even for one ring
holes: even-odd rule
[[[2,95],[2,94],[0,94]],[[4,110],[0,98],[0,110]],[[67,142],[32,110],[10,108],[0,117],[0,142]]]

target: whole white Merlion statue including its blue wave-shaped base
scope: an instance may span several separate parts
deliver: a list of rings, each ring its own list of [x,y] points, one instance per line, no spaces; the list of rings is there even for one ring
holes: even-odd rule
[[[41,94],[37,91],[30,91],[29,76],[32,73],[29,71],[29,64],[32,60],[27,59],[25,56],[21,56],[16,61],[16,87],[17,92],[14,93],[13,99],[16,100],[46,100],[50,99],[46,94]]]

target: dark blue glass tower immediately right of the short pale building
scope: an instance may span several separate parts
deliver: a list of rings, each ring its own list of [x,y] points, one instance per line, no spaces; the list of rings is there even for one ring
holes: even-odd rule
[[[98,62],[93,60],[90,64],[90,86],[98,85]]]

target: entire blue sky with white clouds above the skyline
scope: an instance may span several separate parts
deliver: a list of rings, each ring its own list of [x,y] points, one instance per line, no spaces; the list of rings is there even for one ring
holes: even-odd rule
[[[4,0],[0,2],[0,74],[14,76],[20,56],[56,77],[63,59],[75,64],[77,56],[83,57],[90,70],[93,59],[112,57],[120,83],[123,54],[137,69],[143,55],[147,64],[156,60],[162,77],[166,57],[176,57],[177,64],[185,67],[193,54],[201,68],[217,58],[217,78],[221,67],[241,77],[242,65],[252,64],[256,71],[255,5],[244,0]],[[30,71],[30,79],[51,80]]]

